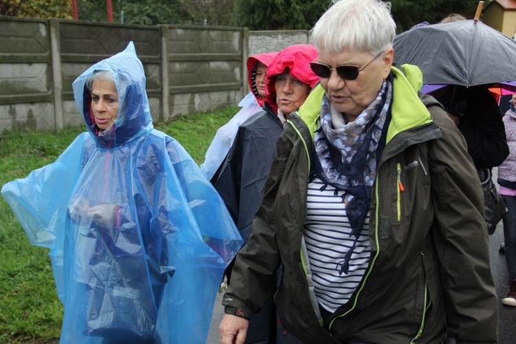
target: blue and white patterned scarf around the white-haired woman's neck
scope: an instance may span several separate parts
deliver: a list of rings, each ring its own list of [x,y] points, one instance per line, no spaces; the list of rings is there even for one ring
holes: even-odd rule
[[[377,162],[384,147],[380,139],[391,99],[392,86],[385,80],[376,99],[354,122],[338,125],[343,114],[323,96],[321,125],[314,136],[314,173],[326,184],[345,191],[343,202],[355,237],[353,247],[337,266],[341,274],[349,270],[356,239],[369,211]]]

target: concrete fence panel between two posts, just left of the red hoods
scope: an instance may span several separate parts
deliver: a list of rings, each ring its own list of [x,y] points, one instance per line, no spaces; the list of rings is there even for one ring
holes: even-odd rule
[[[170,26],[168,36],[169,118],[239,102],[243,29]]]

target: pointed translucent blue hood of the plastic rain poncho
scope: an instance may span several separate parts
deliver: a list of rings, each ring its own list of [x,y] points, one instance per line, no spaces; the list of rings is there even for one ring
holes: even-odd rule
[[[94,72],[103,70],[113,74],[120,111],[114,124],[99,134],[90,106],[91,94],[86,87],[86,79]],[[120,147],[153,129],[144,69],[136,56],[133,42],[130,42],[124,51],[89,67],[76,78],[72,87],[75,104],[83,115],[86,127],[97,147]]]

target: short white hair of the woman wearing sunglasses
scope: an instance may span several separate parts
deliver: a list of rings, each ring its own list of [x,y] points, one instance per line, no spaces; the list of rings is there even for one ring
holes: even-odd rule
[[[317,51],[338,54],[344,48],[380,54],[392,47],[396,23],[391,3],[380,0],[334,0],[310,35]]]

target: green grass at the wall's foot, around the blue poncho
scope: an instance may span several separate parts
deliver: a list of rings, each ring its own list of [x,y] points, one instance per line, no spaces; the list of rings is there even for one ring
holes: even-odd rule
[[[201,164],[219,127],[237,113],[226,107],[189,114],[156,129],[169,134]],[[0,185],[24,178],[54,162],[85,131],[9,131],[0,138]],[[48,249],[31,246],[18,220],[0,197],[0,343],[58,343],[63,305],[58,300]]]

